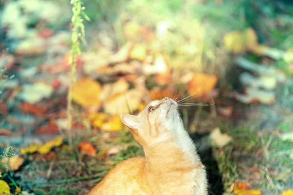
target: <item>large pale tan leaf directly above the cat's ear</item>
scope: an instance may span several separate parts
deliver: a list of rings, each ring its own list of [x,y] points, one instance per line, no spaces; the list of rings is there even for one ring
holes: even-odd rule
[[[123,94],[115,95],[105,101],[105,113],[109,115],[132,113],[138,109],[145,94],[146,92],[142,89],[130,89]]]

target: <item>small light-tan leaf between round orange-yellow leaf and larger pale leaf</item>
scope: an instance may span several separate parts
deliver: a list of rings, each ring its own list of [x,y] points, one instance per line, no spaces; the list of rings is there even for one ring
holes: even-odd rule
[[[106,100],[108,97],[126,92],[129,88],[129,84],[125,79],[119,79],[114,83],[105,84],[100,93],[100,99]]]

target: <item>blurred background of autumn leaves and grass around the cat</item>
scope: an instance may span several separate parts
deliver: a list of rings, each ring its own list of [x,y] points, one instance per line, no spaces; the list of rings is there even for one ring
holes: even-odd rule
[[[1,0],[0,194],[85,194],[169,97],[210,195],[291,195],[292,62],[290,0]]]

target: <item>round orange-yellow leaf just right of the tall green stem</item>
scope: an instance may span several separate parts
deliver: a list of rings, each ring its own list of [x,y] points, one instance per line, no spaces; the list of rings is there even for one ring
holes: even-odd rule
[[[84,107],[100,106],[100,91],[101,85],[97,81],[92,78],[83,78],[74,84],[72,99]]]

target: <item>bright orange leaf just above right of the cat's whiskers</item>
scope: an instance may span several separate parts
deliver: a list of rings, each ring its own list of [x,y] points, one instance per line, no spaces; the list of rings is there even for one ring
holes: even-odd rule
[[[188,93],[193,97],[208,98],[217,84],[218,78],[204,73],[196,73],[187,84]]]

